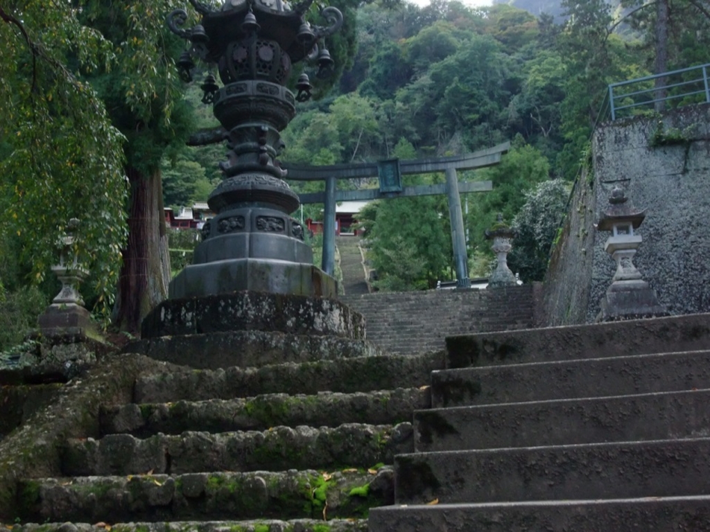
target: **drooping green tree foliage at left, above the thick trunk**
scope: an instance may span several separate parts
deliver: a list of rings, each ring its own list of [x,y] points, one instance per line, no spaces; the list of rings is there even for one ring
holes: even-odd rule
[[[178,84],[174,50],[166,50],[176,40],[165,29],[178,4],[0,8],[0,231],[18,235],[30,279],[40,282],[58,260],[65,223],[79,218],[75,248],[104,309],[127,236],[126,162],[157,165],[155,145],[171,142],[179,122],[171,122]]]

